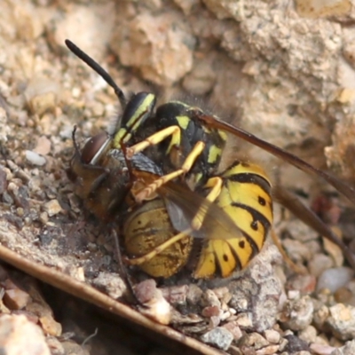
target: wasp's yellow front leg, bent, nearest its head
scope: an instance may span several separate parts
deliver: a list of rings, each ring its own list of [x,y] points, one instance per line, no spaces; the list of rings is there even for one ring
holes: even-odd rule
[[[146,149],[148,146],[154,146],[158,143],[161,143],[165,138],[171,136],[170,146],[180,146],[181,142],[181,130],[178,126],[170,126],[163,130],[159,130],[158,132],[152,134],[141,142],[137,143],[134,146],[130,146],[127,148],[127,158],[130,159],[134,154],[141,152]],[[169,148],[170,150],[170,148]],[[168,150],[168,153],[169,153]]]

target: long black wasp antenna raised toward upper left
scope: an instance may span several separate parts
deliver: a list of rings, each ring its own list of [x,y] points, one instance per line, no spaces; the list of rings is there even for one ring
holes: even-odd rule
[[[114,93],[117,99],[120,101],[122,109],[126,106],[126,98],[124,97],[123,91],[114,83],[114,79],[106,72],[106,70],[99,65],[94,59],[92,59],[88,54],[82,51],[76,44],[69,41],[68,39],[65,40],[67,48],[72,51],[76,57],[83,60],[83,62],[91,67],[92,70],[95,70],[105,81],[114,89]]]

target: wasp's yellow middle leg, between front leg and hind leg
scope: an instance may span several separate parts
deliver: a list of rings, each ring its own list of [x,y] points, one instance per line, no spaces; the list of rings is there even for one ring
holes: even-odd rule
[[[197,142],[195,146],[193,146],[193,150],[190,154],[187,155],[185,162],[183,163],[181,169],[175,170],[170,174],[164,175],[162,177],[157,178],[154,183],[147,185],[143,190],[135,195],[135,200],[140,203],[149,199],[155,191],[161,187],[162,185],[166,184],[168,181],[173,180],[176,177],[181,175],[185,175],[186,172],[191,170],[193,163],[196,159],[201,155],[205,144],[201,141]]]

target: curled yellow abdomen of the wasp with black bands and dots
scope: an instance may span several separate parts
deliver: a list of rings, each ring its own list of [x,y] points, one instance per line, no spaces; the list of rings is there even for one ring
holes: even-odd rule
[[[223,186],[215,203],[233,219],[235,238],[210,233],[195,278],[216,273],[228,277],[244,268],[263,248],[272,225],[271,184],[264,170],[256,164],[234,162],[221,177]]]

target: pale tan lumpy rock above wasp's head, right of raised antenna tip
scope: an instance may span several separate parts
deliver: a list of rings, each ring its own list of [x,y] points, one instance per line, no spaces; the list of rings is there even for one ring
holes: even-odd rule
[[[175,83],[193,67],[195,40],[180,12],[142,13],[114,34],[111,48],[122,64],[138,67],[153,83]]]

